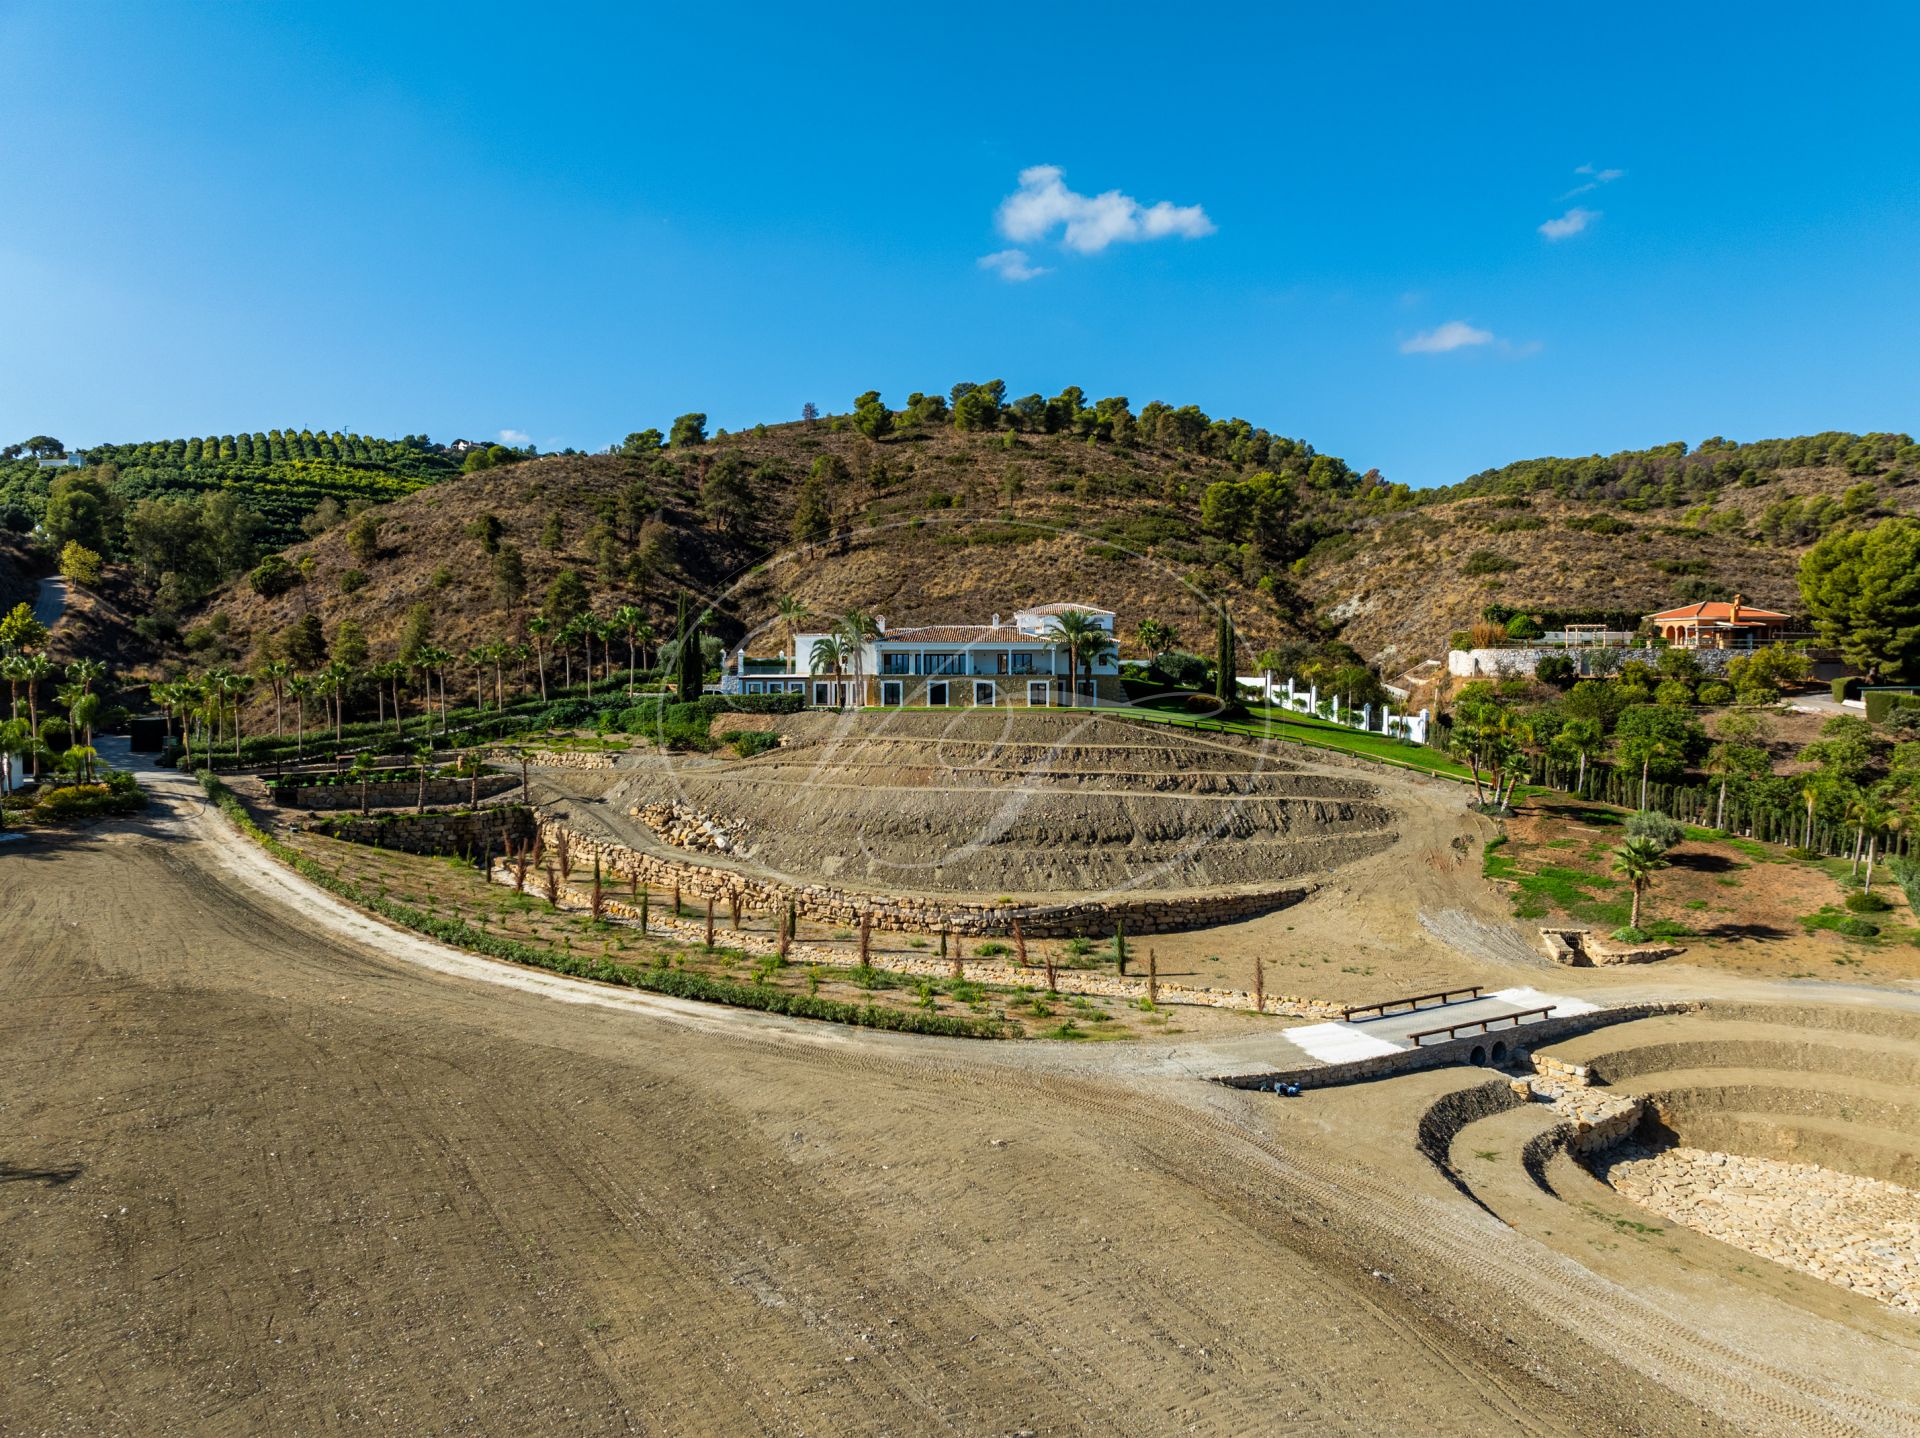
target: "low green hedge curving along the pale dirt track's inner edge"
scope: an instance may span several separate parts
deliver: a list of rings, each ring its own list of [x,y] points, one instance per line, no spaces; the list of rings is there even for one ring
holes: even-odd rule
[[[501,958],[509,964],[551,970],[576,979],[595,979],[597,983],[616,983],[624,989],[643,989],[647,993],[668,995],[672,998],[695,998],[707,1004],[732,1004],[733,1008],[756,1008],[764,1014],[785,1014],[801,1019],[822,1019],[826,1023],[851,1023],[862,1029],[895,1029],[899,1033],[931,1033],[945,1039],[1004,1039],[1006,1029],[998,1019],[970,1019],[954,1014],[918,1014],[914,1010],[879,1008],[877,1004],[845,1004],[835,998],[816,995],[797,995],[783,989],[733,983],[714,979],[705,973],[684,970],[634,968],[614,964],[607,958],[570,954],[538,945],[503,939],[497,933],[476,929],[465,920],[449,920],[411,904],[397,904],[392,899],[371,895],[349,879],[342,879],[321,864],[301,854],[298,849],[280,843],[253,822],[234,791],[228,789],[211,770],[200,770],[200,787],[219,804],[221,812],[234,822],[248,837],[259,843],[269,854],[288,864],[303,879],[317,883],[330,895],[346,899],[349,904],[367,908],[384,920],[392,920],[405,929],[424,933],[428,939],[467,948],[488,958]]]

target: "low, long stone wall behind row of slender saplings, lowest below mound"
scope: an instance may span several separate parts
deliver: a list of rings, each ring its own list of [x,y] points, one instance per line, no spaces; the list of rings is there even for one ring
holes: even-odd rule
[[[490,877],[495,883],[513,885],[513,866],[505,860],[493,864]],[[538,891],[540,885],[534,875],[528,875],[528,889]],[[559,906],[588,912],[591,908],[591,895],[578,885],[566,885],[559,893]],[[660,908],[647,908],[647,933],[672,939],[674,943],[699,945],[707,941],[707,922],[705,920],[684,920],[674,918],[668,912],[668,904]],[[609,893],[601,893],[601,914],[611,920],[637,923],[639,906],[628,899],[614,899]],[[718,918],[716,918],[718,925]],[[714,929],[714,943],[722,948],[737,948],[743,954],[778,954],[780,945],[758,933],[739,933],[737,929]],[[847,968],[847,954],[837,948],[824,948],[820,945],[808,945],[793,941],[787,947],[787,960],[793,964],[831,964],[835,968]],[[908,954],[868,954],[868,962],[877,970],[887,970],[889,973],[916,973],[927,979],[947,979],[952,977],[954,960],[952,958],[920,958]],[[1006,960],[987,960],[987,958],[962,958],[962,973],[975,983],[989,983],[1006,989],[1031,987],[1039,989],[1046,983],[1046,968],[1043,964],[1033,964],[1029,968],[1020,968],[1020,964]],[[1119,975],[1119,973],[1092,973],[1089,970],[1066,970],[1054,968],[1054,987],[1066,995],[1094,995],[1104,998],[1146,998],[1148,983],[1142,977]],[[1185,983],[1156,983],[1154,985],[1156,1002],[1162,1004],[1196,1004],[1202,1008],[1236,1008],[1254,1012],[1254,995],[1240,989],[1196,989]],[[1338,1004],[1329,1004],[1319,998],[1294,998],[1286,995],[1265,995],[1261,1014],[1273,1014],[1277,1018],[1311,1018],[1329,1019],[1340,1016]]]

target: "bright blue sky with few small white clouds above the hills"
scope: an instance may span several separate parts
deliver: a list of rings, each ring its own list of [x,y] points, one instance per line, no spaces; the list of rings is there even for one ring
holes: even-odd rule
[[[0,4],[0,442],[593,449],[960,378],[1409,484],[1910,432],[1916,40],[1912,6]]]

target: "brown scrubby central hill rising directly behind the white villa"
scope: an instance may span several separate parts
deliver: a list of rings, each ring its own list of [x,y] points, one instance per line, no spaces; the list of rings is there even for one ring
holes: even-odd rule
[[[1292,453],[1329,468],[1306,445]],[[1208,486],[1242,472],[1231,455],[1154,442],[950,424],[881,438],[781,424],[695,447],[534,459],[384,507],[378,541],[357,553],[348,524],[292,545],[298,580],[276,593],[227,586],[188,641],[242,657],[311,611],[328,634],[353,620],[376,655],[392,653],[424,603],[436,643],[463,649],[520,632],[564,570],[601,612],[634,603],[660,632],[676,595],[693,589],[716,605],[730,643],[766,624],[785,593],[893,624],[985,622],[1075,597],[1114,609],[1129,632],[1158,618],[1196,649],[1212,643],[1217,597],[1250,645],[1300,637],[1284,570],[1248,564],[1202,532]],[[797,543],[808,515],[820,538]]]

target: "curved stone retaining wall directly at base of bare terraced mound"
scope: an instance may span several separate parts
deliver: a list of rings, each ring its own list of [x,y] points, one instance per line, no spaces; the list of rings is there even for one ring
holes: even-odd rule
[[[1127,935],[1137,937],[1200,929],[1231,920],[1271,914],[1298,904],[1311,893],[1309,885],[1302,885],[1292,889],[1261,889],[1256,893],[1179,895],[1164,899],[1127,895],[1041,906],[987,904],[960,899],[902,899],[893,895],[866,895],[826,883],[778,883],[739,874],[737,870],[643,854],[607,839],[582,837],[551,818],[541,818],[540,833],[549,851],[557,847],[561,833],[566,833],[566,843],[578,862],[591,864],[599,858],[605,874],[620,875],[622,879],[637,877],[651,889],[672,889],[678,885],[693,899],[707,899],[710,895],[722,902],[739,895],[741,904],[760,912],[774,912],[793,904],[801,918],[847,927],[856,925],[864,916],[872,927],[895,933],[939,933],[947,929],[973,937],[1002,937],[1012,933],[1014,920],[1020,920],[1021,933],[1029,939],[1106,937],[1114,933],[1116,923],[1125,923]]]

